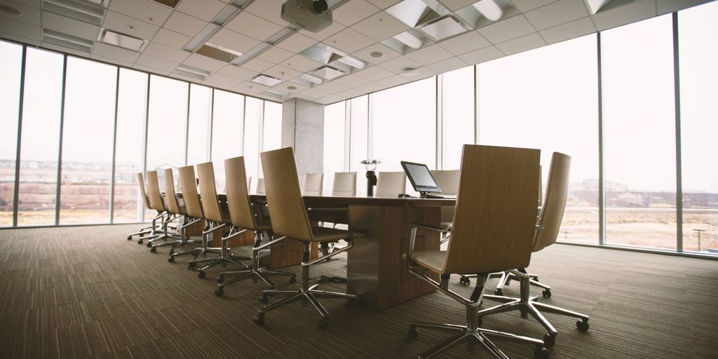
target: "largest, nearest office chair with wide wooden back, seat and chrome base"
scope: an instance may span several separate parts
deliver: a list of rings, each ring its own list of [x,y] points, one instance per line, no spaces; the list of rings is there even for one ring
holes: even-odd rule
[[[412,322],[409,338],[418,328],[457,332],[419,358],[432,358],[461,342],[480,343],[495,358],[508,358],[490,340],[499,338],[536,346],[536,358],[549,357],[544,342],[480,327],[478,307],[488,274],[522,266],[531,260],[531,234],[536,225],[534,182],[540,151],[509,147],[464,145],[454,228],[447,251],[414,251],[419,229],[441,232],[442,228],[411,224],[406,261],[409,273],[466,307],[465,325]],[[433,274],[430,274],[433,272]],[[470,298],[448,288],[450,274],[478,274]],[[435,278],[439,276],[439,281]]]

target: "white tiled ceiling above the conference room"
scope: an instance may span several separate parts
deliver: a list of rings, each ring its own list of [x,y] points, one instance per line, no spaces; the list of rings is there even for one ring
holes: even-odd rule
[[[71,1],[86,0],[62,0]],[[457,11],[477,0],[438,1],[449,11]],[[508,6],[497,22],[483,19],[479,27],[441,42],[427,37],[423,47],[401,53],[381,43],[409,29],[384,11],[399,0],[348,0],[332,9],[334,22],[327,29],[317,33],[301,29],[240,66],[182,50],[230,2],[181,0],[176,9],[171,9],[151,0],[106,0],[106,11],[98,26],[43,9],[42,0],[0,0],[0,5],[22,13],[15,16],[0,11],[0,37],[272,101],[297,97],[327,104],[708,1],[614,0],[612,6],[621,6],[607,6],[592,15],[584,0],[497,0],[498,4]],[[282,3],[284,0],[251,1],[223,24],[210,42],[238,52],[251,50],[289,26],[280,17]],[[149,43],[142,52],[107,45],[95,41],[101,28]],[[43,29],[89,40],[91,50],[84,52],[45,42]],[[295,83],[300,75],[324,66],[299,55],[320,42],[362,60],[366,66],[311,88],[307,83]],[[376,51],[382,52],[383,57],[370,56]],[[193,80],[175,74],[178,66],[200,69],[209,75],[203,81]],[[416,69],[416,75],[405,75],[407,67]],[[259,73],[283,81],[273,88],[251,83],[249,80]],[[280,90],[288,95],[279,98],[266,90]]]

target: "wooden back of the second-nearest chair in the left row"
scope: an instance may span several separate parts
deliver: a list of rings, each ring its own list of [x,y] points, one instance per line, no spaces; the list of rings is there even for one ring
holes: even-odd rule
[[[247,172],[244,157],[225,159],[227,180],[227,206],[232,224],[239,228],[254,230],[256,223],[247,190]]]

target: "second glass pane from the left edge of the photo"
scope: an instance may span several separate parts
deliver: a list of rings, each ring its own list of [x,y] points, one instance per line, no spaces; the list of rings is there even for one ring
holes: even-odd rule
[[[20,149],[19,225],[55,224],[62,58],[55,52],[27,48]]]

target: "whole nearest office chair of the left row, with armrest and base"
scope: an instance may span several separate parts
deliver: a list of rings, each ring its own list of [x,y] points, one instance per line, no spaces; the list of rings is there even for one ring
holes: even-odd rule
[[[257,325],[264,325],[266,312],[277,309],[284,304],[289,304],[297,299],[304,299],[317,312],[321,319],[317,323],[321,329],[329,326],[329,313],[317,297],[355,299],[353,294],[325,292],[317,290],[319,284],[309,286],[309,266],[325,261],[326,258],[336,256],[339,253],[348,251],[354,245],[354,238],[358,233],[353,233],[348,208],[312,208],[314,213],[335,212],[345,215],[348,230],[335,228],[314,227],[309,222],[307,208],[304,207],[302,192],[299,190],[299,177],[297,176],[297,165],[294,162],[294,151],[291,147],[266,151],[260,154],[262,168],[264,169],[264,180],[266,186],[266,199],[269,204],[269,215],[271,217],[272,230],[278,238],[289,238],[301,241],[304,244],[304,259],[302,260],[302,286],[299,290],[276,290],[267,289],[262,292],[260,301],[268,302],[269,296],[286,294],[288,297],[267,305],[259,310],[254,317]],[[311,243],[336,242],[340,239],[347,241],[348,245],[334,253],[310,259]]]

